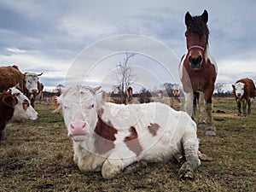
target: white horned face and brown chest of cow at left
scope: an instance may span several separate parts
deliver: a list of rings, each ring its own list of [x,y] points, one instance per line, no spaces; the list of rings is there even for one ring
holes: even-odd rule
[[[25,73],[24,93],[30,99],[31,105],[34,108],[36,97],[38,96],[38,76],[43,73]]]

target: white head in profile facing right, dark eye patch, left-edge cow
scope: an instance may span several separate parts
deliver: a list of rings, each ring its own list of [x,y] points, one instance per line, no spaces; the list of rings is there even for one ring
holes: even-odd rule
[[[15,112],[13,115],[13,120],[22,120],[22,119],[38,119],[38,113],[30,105],[29,99],[24,96],[20,90],[13,87],[8,90],[8,92],[15,97]]]

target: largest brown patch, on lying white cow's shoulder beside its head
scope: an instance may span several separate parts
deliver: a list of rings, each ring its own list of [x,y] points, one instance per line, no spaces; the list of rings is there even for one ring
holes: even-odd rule
[[[110,120],[108,120],[108,123],[106,123],[98,115],[98,121],[96,123],[94,132],[94,145],[97,154],[105,154],[114,148],[113,142],[116,140],[114,135],[117,134],[118,131],[113,127]]]

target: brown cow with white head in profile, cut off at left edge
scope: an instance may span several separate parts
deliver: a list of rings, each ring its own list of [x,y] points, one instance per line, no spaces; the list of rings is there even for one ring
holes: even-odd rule
[[[15,87],[0,93],[0,113],[0,140],[3,139],[3,130],[10,119],[38,119],[38,113],[31,107],[28,98]]]

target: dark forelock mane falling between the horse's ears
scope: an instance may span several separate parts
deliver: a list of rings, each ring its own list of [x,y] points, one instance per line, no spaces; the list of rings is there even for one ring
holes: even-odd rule
[[[209,29],[207,23],[201,19],[201,16],[193,16],[191,20],[189,20],[189,25],[187,28],[190,32],[199,34],[200,37],[206,35],[208,44]]]

